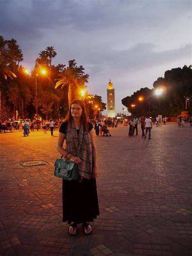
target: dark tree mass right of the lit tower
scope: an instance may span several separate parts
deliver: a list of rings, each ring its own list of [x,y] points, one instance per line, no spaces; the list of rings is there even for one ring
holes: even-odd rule
[[[181,111],[192,115],[192,66],[172,68],[158,77],[153,83],[154,89],[141,88],[131,96],[122,99],[122,104],[129,112],[139,115],[177,116]],[[160,89],[161,94],[156,95]],[[141,100],[142,99],[142,100]],[[131,105],[135,105],[133,108]],[[160,109],[159,109],[160,107]]]

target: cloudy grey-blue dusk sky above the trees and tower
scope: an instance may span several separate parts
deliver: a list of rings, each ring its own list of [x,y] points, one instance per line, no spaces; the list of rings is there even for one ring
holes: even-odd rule
[[[17,40],[29,69],[47,46],[53,64],[75,59],[105,103],[111,79],[117,113],[122,98],[192,63],[191,14],[190,0],[0,0],[0,34]]]

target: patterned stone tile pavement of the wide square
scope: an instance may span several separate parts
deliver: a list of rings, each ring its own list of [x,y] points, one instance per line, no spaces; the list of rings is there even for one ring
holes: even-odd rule
[[[191,256],[192,127],[128,127],[95,137],[100,215],[87,236],[62,223],[62,181],[53,175],[58,131],[0,134],[0,255]],[[44,166],[19,162],[42,160]]]

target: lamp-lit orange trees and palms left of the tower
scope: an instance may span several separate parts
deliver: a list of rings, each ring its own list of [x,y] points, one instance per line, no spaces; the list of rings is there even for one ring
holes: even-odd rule
[[[36,85],[38,115],[46,119],[65,117],[70,102],[81,98],[80,90],[87,88],[89,75],[85,74],[82,65],[77,66],[75,60],[69,60],[68,66],[63,63],[53,65],[52,59],[56,55],[53,46],[46,47],[37,54],[31,73],[26,74],[26,69],[19,65],[23,54],[17,41],[13,38],[4,40],[0,36],[0,119],[15,117],[16,110],[20,118],[33,119],[36,113]],[[42,69],[46,70],[46,74],[42,75]],[[96,100],[94,96],[90,97],[94,108]],[[90,103],[85,98],[83,101],[88,108]],[[105,103],[100,103],[100,111],[103,111]]]

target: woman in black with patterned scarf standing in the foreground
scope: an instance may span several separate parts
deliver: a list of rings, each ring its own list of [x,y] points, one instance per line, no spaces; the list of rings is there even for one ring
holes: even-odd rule
[[[66,149],[63,148],[66,140]],[[81,156],[77,157],[81,147]],[[73,100],[60,126],[57,143],[64,159],[78,164],[78,180],[63,179],[63,222],[68,222],[68,233],[76,235],[77,224],[82,223],[86,235],[92,232],[89,222],[99,215],[96,177],[97,151],[93,125],[87,122],[87,113],[81,100]]]

